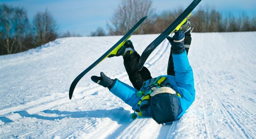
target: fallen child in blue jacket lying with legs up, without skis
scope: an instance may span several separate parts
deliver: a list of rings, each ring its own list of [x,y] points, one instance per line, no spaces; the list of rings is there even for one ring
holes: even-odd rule
[[[101,76],[92,76],[91,79],[107,87],[139,116],[152,116],[159,124],[171,124],[180,119],[195,100],[193,71],[187,57],[190,32],[190,21],[187,19],[173,38],[167,37],[171,44],[167,75],[152,78],[146,67],[139,71],[140,55],[132,42],[127,40],[116,55],[109,57],[123,56],[124,67],[134,88],[118,79],[110,79],[103,72]]]

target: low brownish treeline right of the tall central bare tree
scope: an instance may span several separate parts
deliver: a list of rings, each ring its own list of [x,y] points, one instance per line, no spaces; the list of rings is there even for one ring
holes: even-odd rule
[[[181,13],[182,10],[164,12],[155,16],[152,21],[152,26],[148,33],[160,33],[175,18]],[[229,13],[224,15],[216,11],[214,8],[199,8],[192,13],[191,26],[194,27],[193,32],[249,32],[256,31],[256,16],[249,17],[248,14],[242,13],[234,15]],[[158,28],[158,29],[157,29]]]

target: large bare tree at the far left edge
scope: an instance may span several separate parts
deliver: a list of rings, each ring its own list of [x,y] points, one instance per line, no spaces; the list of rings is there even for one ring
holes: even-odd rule
[[[23,8],[0,5],[1,50],[4,49],[7,54],[22,51],[28,26],[27,13]]]

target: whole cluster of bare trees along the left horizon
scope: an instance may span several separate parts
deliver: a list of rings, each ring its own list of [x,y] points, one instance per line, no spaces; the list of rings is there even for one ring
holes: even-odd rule
[[[58,25],[47,11],[38,12],[30,23],[24,8],[0,5],[0,55],[36,48],[56,38],[81,36],[57,32]]]

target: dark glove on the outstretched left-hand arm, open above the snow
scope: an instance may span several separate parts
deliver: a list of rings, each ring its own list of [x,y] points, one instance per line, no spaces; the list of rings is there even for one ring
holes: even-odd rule
[[[98,83],[99,85],[102,85],[105,88],[112,88],[112,86],[115,83],[115,80],[110,79],[108,76],[106,76],[103,72],[101,72],[101,76],[92,76],[92,81],[95,83]]]

